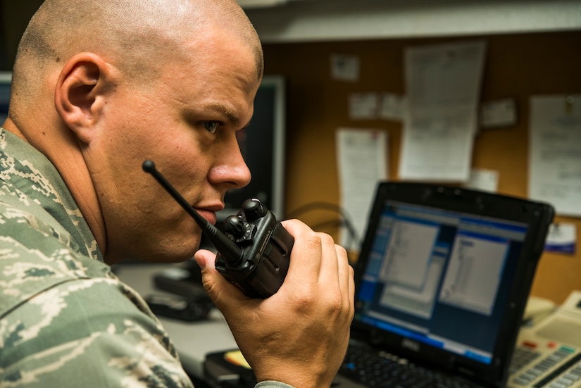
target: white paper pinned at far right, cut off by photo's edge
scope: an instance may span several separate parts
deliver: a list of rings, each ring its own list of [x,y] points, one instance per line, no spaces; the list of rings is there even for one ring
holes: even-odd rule
[[[581,95],[532,96],[529,196],[581,215]]]

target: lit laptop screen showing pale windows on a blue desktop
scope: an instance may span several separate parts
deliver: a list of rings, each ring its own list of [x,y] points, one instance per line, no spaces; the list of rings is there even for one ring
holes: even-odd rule
[[[526,232],[525,223],[385,200],[356,320],[409,346],[491,363]]]

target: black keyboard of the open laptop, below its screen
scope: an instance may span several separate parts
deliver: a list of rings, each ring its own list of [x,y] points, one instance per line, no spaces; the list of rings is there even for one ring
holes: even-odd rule
[[[383,351],[351,344],[339,374],[366,387],[472,388],[479,385],[415,365]]]

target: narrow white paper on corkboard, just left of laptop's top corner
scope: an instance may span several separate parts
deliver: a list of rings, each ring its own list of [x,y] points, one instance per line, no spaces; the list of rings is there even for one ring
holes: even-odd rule
[[[339,128],[336,141],[341,206],[360,240],[348,246],[350,237],[344,232],[340,244],[358,250],[377,182],[387,179],[387,134],[381,130]]]

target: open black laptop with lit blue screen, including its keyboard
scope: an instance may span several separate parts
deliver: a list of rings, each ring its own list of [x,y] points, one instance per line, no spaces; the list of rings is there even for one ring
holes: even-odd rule
[[[381,182],[356,264],[346,387],[504,387],[553,208]]]

